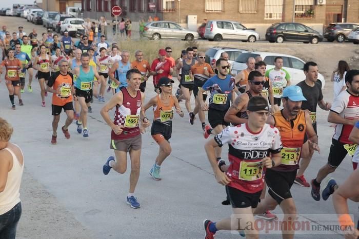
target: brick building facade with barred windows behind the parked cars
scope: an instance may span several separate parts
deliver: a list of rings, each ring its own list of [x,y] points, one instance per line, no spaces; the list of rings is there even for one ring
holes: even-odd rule
[[[46,1],[46,0],[43,0]],[[58,0],[57,0],[58,1]],[[111,8],[122,8],[120,17],[132,21],[158,16],[161,20],[185,24],[188,16],[228,19],[241,23],[271,24],[299,22],[323,24],[359,22],[359,0],[82,0],[84,17],[111,19]]]

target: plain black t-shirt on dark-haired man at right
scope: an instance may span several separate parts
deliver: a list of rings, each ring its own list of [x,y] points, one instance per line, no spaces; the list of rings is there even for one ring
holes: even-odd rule
[[[316,106],[319,101],[323,99],[322,86],[320,83],[315,82],[314,86],[308,86],[305,81],[302,81],[297,84],[297,86],[302,88],[303,95],[307,101],[302,102],[302,110],[309,110],[311,112],[316,112]]]

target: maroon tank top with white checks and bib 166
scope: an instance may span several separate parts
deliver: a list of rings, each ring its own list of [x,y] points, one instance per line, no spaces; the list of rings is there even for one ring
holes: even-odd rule
[[[126,88],[121,90],[123,103],[116,106],[115,119],[113,124],[125,126],[121,134],[111,131],[111,140],[126,140],[139,135],[139,113],[141,112],[142,98],[141,91],[137,90],[135,97],[132,97]]]

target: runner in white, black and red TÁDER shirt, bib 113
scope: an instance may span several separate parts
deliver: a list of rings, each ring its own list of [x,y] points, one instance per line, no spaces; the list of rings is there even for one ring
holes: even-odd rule
[[[227,64],[227,61],[223,59],[223,63]],[[266,124],[269,107],[265,98],[253,96],[248,102],[247,114],[249,120],[246,124],[225,128],[205,145],[214,177],[226,186],[233,210],[230,218],[220,222],[204,221],[206,239],[213,239],[218,230],[244,230],[246,238],[258,238],[258,231],[249,227],[254,225],[252,212],[260,201],[266,171],[280,165],[282,143],[278,130]],[[237,135],[241,136],[242,144],[236,143]],[[227,143],[231,164],[224,173],[217,165],[215,149]]]

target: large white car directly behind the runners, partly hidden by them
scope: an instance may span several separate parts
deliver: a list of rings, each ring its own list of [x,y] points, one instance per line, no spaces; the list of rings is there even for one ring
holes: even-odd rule
[[[303,71],[305,62],[296,56],[286,55],[272,52],[261,52],[261,51],[248,51],[243,52],[235,59],[233,64],[234,71],[241,71],[247,68],[246,62],[249,57],[261,56],[263,61],[267,64],[267,70],[274,68],[274,58],[281,56],[283,58],[283,67],[288,71],[290,75],[291,85],[296,85],[303,81],[306,77]],[[322,84],[322,89],[325,86],[325,79],[322,74],[318,74],[318,81]]]

